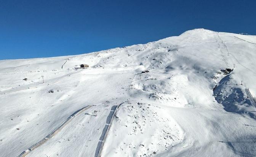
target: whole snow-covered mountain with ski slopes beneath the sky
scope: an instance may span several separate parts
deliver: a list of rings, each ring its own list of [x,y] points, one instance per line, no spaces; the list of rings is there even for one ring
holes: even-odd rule
[[[205,29],[1,60],[0,156],[256,156],[255,68],[256,36]]]

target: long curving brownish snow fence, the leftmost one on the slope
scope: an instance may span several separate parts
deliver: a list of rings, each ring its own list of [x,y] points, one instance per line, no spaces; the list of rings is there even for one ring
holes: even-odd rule
[[[40,140],[39,142],[33,144],[32,146],[30,146],[28,149],[26,149],[25,151],[23,151],[21,154],[19,154],[17,157],[25,157],[27,154],[29,154],[29,152],[33,151],[35,148],[41,146],[43,143],[45,143],[46,141],[48,141],[50,138],[52,138],[54,135],[56,135],[56,133],[58,133],[68,122],[71,121],[71,119],[73,119],[75,116],[77,116],[78,114],[82,113],[83,111],[85,111],[86,109],[90,108],[91,105],[85,106],[81,109],[78,109],[77,111],[75,111],[73,114],[71,114],[64,122],[62,122],[58,127],[56,127],[50,134],[48,134],[45,138],[43,138],[43,140]]]

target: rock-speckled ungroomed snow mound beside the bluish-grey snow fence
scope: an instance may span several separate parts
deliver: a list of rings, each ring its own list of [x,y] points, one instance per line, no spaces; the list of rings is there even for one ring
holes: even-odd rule
[[[166,113],[157,106],[124,103],[114,117],[101,155],[149,156],[182,141],[181,128],[171,116],[163,115]]]

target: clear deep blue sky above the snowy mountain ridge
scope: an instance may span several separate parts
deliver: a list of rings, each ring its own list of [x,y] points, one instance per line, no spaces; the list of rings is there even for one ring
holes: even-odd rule
[[[256,0],[0,0],[0,60],[83,54],[195,28],[256,34]]]

